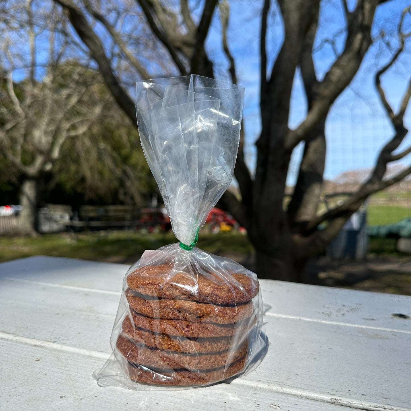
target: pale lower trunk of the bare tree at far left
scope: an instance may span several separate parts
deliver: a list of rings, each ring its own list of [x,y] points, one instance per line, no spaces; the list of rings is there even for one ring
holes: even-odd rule
[[[37,179],[26,178],[20,189],[21,211],[18,221],[18,232],[25,236],[35,236],[37,213]]]

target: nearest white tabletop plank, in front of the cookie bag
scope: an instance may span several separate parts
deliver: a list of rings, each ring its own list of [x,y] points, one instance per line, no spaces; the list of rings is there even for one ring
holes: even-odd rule
[[[330,403],[261,388],[217,384],[206,388],[131,391],[101,388],[92,372],[101,360],[0,339],[4,410],[291,410],[344,411]]]

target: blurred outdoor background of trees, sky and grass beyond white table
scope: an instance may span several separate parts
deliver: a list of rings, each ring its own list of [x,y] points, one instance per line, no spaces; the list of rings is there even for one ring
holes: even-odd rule
[[[175,242],[135,82],[245,86],[198,246],[261,278],[411,295],[405,0],[0,1],[0,261],[132,264]]]

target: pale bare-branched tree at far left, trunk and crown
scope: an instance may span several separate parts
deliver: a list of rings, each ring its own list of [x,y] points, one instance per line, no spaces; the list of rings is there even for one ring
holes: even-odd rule
[[[0,25],[0,158],[21,183],[18,231],[35,235],[39,181],[65,142],[98,119],[109,97],[101,97],[98,72],[67,60],[69,41],[61,35],[57,7],[30,0],[7,11]]]

